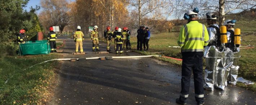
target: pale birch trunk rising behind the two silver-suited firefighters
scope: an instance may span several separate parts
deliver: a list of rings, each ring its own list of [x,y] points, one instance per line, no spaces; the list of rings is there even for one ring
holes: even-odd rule
[[[225,5],[224,0],[219,0],[219,24],[222,26],[225,20]]]

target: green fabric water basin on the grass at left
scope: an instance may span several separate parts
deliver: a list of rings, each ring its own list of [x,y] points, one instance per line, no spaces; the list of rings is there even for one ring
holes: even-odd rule
[[[39,55],[49,54],[50,44],[47,40],[42,41],[26,41],[25,44],[19,45],[21,55]]]

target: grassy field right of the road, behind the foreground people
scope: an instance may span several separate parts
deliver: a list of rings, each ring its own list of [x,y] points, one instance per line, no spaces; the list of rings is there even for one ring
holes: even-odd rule
[[[149,51],[137,51],[137,38],[131,38],[132,49],[143,55],[164,55],[173,58],[181,59],[180,48],[175,48],[172,46],[177,45],[178,32],[166,32],[166,33],[158,33],[152,34],[149,40]],[[243,36],[244,40],[255,39],[254,35]],[[239,59],[239,72],[238,77],[243,77],[247,80],[256,82],[256,50],[255,49],[244,49],[247,47],[247,44],[256,45],[256,42],[248,42],[242,41],[242,46],[240,47],[240,55]],[[171,47],[169,47],[171,46]],[[162,52],[162,53],[155,53]],[[167,61],[173,65],[177,65],[181,67],[181,61],[167,59],[167,58],[158,58],[163,61]],[[203,62],[205,67],[205,61]],[[249,88],[253,91],[256,91],[256,83],[253,85],[243,85],[242,83],[238,83],[238,86]]]

